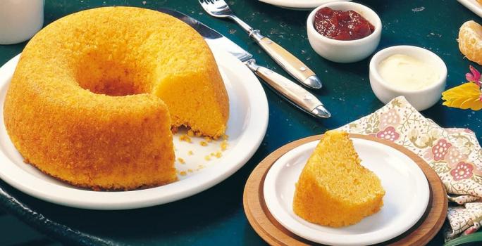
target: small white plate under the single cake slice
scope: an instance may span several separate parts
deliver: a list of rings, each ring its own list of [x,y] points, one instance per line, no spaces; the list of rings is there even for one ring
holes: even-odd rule
[[[352,138],[364,167],[385,189],[381,210],[358,224],[331,228],[311,224],[293,212],[295,183],[318,141],[300,145],[280,157],[266,174],[264,200],[274,218],[292,233],[326,245],[371,245],[395,238],[414,226],[426,211],[428,181],[404,153],[375,141]]]

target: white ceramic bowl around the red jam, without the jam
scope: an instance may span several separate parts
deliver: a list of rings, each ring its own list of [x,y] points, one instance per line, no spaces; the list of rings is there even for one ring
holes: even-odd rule
[[[313,25],[316,12],[324,7],[333,8],[336,11],[356,11],[368,20],[375,27],[375,30],[369,36],[356,40],[336,40],[324,37],[316,32]],[[375,11],[350,1],[335,1],[323,4],[311,11],[307,20],[309,44],[320,56],[335,63],[354,63],[370,56],[380,43],[381,30],[381,20]]]

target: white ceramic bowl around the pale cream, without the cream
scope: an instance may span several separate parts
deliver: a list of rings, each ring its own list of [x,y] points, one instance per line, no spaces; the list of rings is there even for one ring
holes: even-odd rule
[[[413,58],[423,61],[433,67],[434,70],[438,70],[440,79],[430,86],[417,91],[396,88],[392,84],[386,82],[378,73],[378,66],[380,63],[385,60],[385,58],[395,54],[412,56]],[[445,89],[446,79],[447,66],[443,60],[432,51],[417,46],[402,45],[384,48],[383,50],[378,51],[370,61],[371,89],[376,97],[383,103],[388,103],[397,96],[404,96],[407,98],[407,101],[416,108],[416,110],[426,110],[440,100],[442,91]]]

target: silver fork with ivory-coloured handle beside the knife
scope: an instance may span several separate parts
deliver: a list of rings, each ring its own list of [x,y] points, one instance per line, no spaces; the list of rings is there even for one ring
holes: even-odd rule
[[[249,37],[254,39],[254,41],[256,41],[259,46],[261,46],[261,48],[263,48],[264,51],[266,51],[266,53],[278,63],[278,65],[283,67],[288,74],[297,79],[297,81],[301,82],[304,86],[312,89],[320,89],[323,86],[320,79],[307,65],[304,65],[301,60],[293,56],[292,53],[285,50],[285,48],[261,35],[259,30],[254,30],[247,25],[246,22],[237,18],[224,0],[199,0],[199,4],[201,4],[204,11],[211,16],[234,20],[249,34]]]

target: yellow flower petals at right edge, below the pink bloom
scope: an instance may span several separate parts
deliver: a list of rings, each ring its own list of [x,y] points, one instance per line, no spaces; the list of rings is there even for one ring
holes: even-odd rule
[[[462,108],[466,110],[480,110],[482,91],[475,83],[469,82],[461,84],[442,93],[443,105],[452,108]]]

